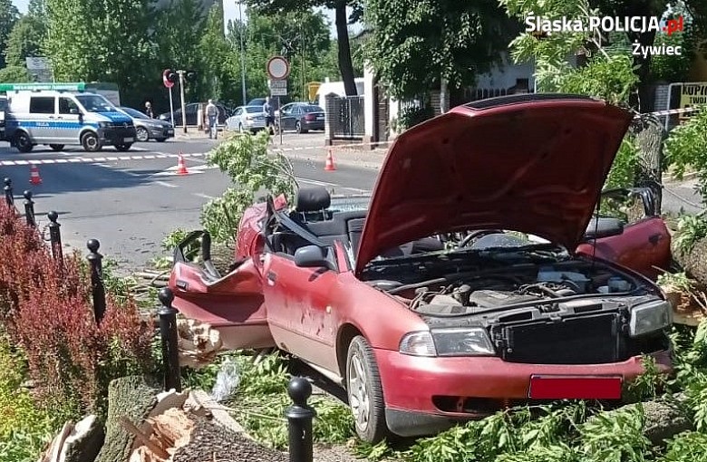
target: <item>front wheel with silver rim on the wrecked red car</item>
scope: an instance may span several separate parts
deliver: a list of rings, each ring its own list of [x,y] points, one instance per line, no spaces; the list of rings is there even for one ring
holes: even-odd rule
[[[373,348],[361,335],[354,337],[349,344],[345,385],[359,438],[372,444],[386,438],[389,430],[385,423],[381,373]]]

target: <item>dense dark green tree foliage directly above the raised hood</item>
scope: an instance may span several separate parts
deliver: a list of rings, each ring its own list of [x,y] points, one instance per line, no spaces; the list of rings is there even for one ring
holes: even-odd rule
[[[517,27],[496,0],[371,0],[366,59],[392,96],[412,98],[445,79],[473,84],[499,63]],[[516,26],[516,27],[514,27]]]

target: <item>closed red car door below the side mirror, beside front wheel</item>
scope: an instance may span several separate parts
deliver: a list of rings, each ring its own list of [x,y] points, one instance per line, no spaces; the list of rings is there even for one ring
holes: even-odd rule
[[[305,361],[334,368],[331,301],[338,272],[301,268],[293,255],[266,252],[263,276],[267,322],[276,345]]]

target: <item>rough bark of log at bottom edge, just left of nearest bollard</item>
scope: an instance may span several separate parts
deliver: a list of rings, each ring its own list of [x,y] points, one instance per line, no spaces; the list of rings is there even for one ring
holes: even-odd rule
[[[218,462],[287,462],[289,457],[208,419],[198,419],[189,444],[177,449],[172,462],[207,462],[214,459]]]

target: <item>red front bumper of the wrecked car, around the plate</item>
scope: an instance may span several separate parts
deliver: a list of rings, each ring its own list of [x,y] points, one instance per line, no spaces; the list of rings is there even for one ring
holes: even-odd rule
[[[672,371],[670,351],[652,356],[659,371]],[[422,358],[389,350],[375,350],[375,357],[388,427],[404,437],[427,435],[459,420],[485,417],[501,403],[528,401],[532,375],[619,376],[630,381],[644,371],[640,356],[581,365],[525,364],[489,357]]]

